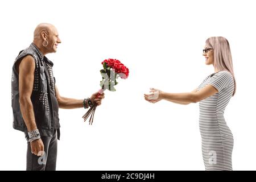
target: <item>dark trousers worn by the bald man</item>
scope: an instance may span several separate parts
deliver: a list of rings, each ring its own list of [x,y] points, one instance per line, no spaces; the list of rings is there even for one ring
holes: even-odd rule
[[[41,136],[44,144],[44,155],[31,153],[30,142],[27,143],[27,171],[55,171],[57,161],[57,132],[53,137]]]

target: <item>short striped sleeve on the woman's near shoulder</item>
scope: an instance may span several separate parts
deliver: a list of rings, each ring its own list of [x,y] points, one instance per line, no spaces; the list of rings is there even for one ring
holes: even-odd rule
[[[209,84],[214,86],[218,92],[220,92],[222,89],[227,88],[232,83],[232,80],[233,76],[231,73],[222,71],[216,73],[216,75],[212,77],[212,80],[210,80]]]

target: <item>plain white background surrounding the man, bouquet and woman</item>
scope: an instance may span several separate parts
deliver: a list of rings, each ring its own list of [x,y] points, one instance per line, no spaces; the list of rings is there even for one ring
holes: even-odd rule
[[[34,28],[52,23],[62,43],[47,55],[60,94],[85,98],[100,86],[101,61],[130,68],[116,92],[84,123],[84,109],[60,110],[57,170],[204,170],[199,104],[150,104],[150,87],[190,92],[214,72],[202,50],[229,40],[237,93],[225,110],[234,135],[233,169],[255,170],[255,5],[253,1],[1,1],[0,169],[26,169],[24,134],[12,129],[11,68]]]

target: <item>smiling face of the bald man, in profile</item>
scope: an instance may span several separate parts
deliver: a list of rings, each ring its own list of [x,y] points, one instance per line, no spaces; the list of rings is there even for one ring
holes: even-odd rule
[[[49,52],[56,52],[58,44],[61,43],[57,28],[51,27],[48,35],[48,46],[47,49]]]

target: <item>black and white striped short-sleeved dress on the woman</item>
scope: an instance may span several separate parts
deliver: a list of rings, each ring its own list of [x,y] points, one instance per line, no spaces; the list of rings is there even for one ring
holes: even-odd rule
[[[213,85],[218,93],[199,102],[199,127],[206,170],[232,170],[233,135],[224,118],[224,110],[234,92],[230,72],[220,71],[204,79],[197,91]]]

